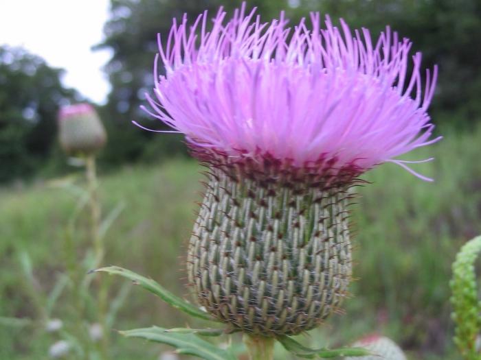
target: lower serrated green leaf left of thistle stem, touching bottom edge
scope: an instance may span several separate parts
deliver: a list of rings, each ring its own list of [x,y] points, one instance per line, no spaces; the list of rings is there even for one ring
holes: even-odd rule
[[[169,333],[165,328],[152,326],[151,328],[136,328],[120,331],[126,337],[139,337],[177,348],[177,352],[200,357],[204,360],[236,360],[230,352],[217,348],[210,342],[200,339],[193,334]]]

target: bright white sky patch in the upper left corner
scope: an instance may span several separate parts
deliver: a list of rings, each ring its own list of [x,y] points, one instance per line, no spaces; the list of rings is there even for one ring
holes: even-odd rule
[[[101,67],[109,51],[91,51],[103,39],[109,0],[0,0],[0,45],[22,45],[62,67],[65,86],[104,104],[109,83]]]

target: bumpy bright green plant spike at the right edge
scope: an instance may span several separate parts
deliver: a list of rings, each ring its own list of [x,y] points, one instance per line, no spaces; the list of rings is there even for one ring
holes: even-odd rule
[[[474,263],[481,252],[481,237],[462,246],[453,264],[451,317],[456,322],[454,342],[466,360],[479,360],[476,338],[481,331],[481,301],[478,299]]]

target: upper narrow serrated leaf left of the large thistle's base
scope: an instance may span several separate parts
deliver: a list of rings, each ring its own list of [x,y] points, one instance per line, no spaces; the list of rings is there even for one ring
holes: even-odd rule
[[[135,284],[140,285],[144,289],[157,295],[159,298],[170,304],[170,306],[175,307],[176,309],[179,309],[180,311],[183,311],[188,315],[199,317],[203,320],[216,321],[208,313],[205,313],[197,307],[194,307],[194,305],[190,304],[190,302],[179,298],[179,296],[175,296],[173,293],[171,293],[152,279],[146,278],[144,276],[136,274],[135,272],[131,272],[130,270],[118,266],[101,267],[100,269],[96,269],[95,271],[124,276],[124,278],[132,280]]]

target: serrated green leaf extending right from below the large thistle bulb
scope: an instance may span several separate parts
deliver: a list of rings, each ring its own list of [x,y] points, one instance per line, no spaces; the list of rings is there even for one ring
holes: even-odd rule
[[[361,357],[366,355],[371,355],[371,353],[363,348],[340,348],[340,349],[311,349],[306,346],[299,344],[288,336],[277,337],[278,341],[284,348],[292,352],[298,357],[303,357],[304,359],[315,359],[320,357],[321,359],[331,359],[333,357]]]

